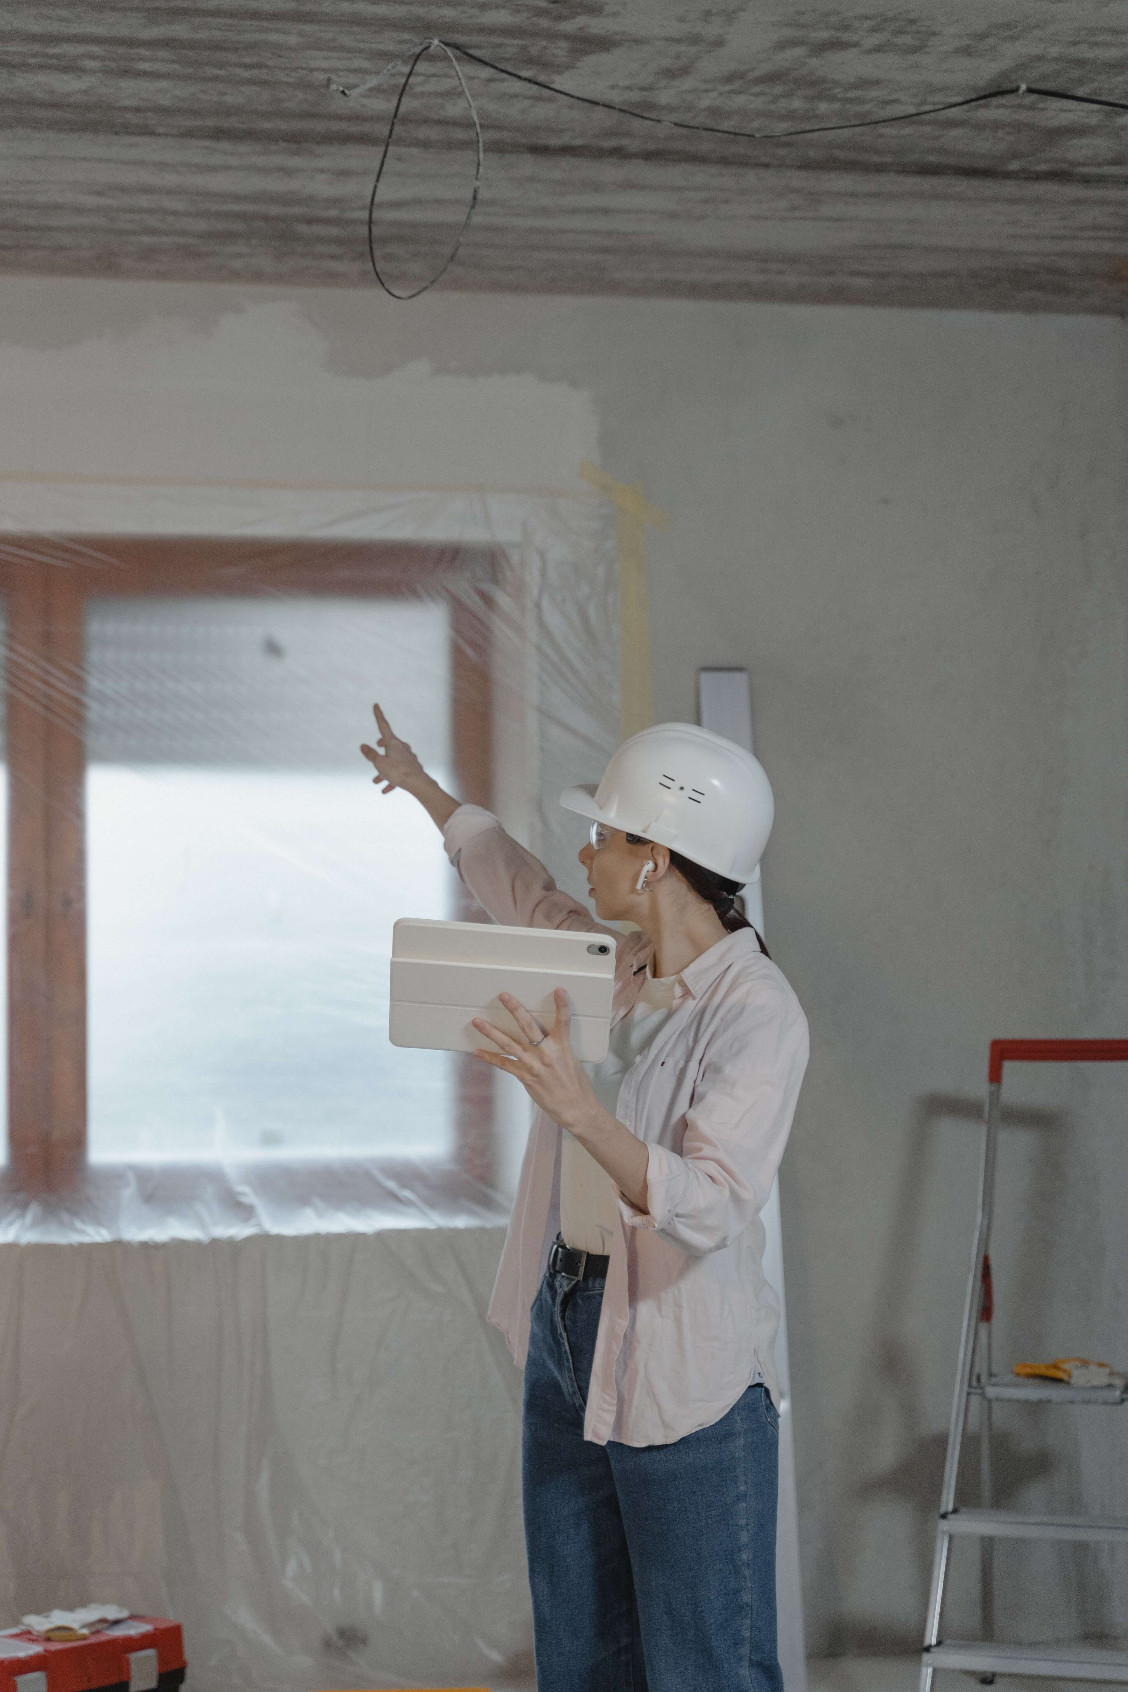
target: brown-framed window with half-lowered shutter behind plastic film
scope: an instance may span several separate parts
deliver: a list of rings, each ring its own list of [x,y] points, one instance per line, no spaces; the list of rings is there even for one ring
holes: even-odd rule
[[[492,558],[98,541],[8,565],[10,1164],[426,1157],[479,1176],[492,1090],[387,1042],[397,915],[470,915],[374,794],[370,700],[489,804]]]

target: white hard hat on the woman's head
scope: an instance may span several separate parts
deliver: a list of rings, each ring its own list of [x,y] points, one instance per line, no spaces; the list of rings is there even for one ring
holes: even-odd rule
[[[775,817],[764,766],[695,722],[660,722],[624,741],[599,787],[568,787],[565,810],[643,834],[731,882],[754,882]]]

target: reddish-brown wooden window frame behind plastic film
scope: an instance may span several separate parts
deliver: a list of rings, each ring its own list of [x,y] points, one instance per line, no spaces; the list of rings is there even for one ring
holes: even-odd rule
[[[463,802],[490,805],[487,548],[389,541],[7,536],[8,1167],[24,1193],[86,1171],[85,619],[88,599],[452,596],[452,751]],[[458,887],[457,915],[485,920]],[[460,1174],[492,1174],[492,1071],[457,1058]],[[370,1159],[379,1162],[382,1159]],[[269,1159],[255,1159],[266,1164]]]

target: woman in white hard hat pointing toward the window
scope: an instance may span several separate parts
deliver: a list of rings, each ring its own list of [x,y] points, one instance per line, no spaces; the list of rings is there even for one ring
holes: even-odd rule
[[[595,919],[496,817],[460,805],[379,706],[386,794],[413,794],[497,922],[616,934],[611,1049],[572,1052],[568,997],[482,1063],[538,1107],[490,1321],[524,1365],[523,1497],[538,1692],[781,1692],[778,1299],[759,1220],[807,1022],[734,909],[773,821],[751,753],[692,724],[626,741],[580,851]]]

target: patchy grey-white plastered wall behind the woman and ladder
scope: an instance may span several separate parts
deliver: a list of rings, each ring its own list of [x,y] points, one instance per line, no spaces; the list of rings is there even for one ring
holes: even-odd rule
[[[120,519],[139,481],[169,511],[580,492],[582,457],[671,514],[658,712],[693,716],[700,665],[753,673],[812,1022],[783,1173],[812,1645],[915,1641],[988,1041],[1128,1030],[1123,323],[7,279],[0,342],[8,525]],[[1123,1365],[1125,1079],[1006,1096],[999,1355]],[[1128,1511],[1125,1421],[1086,1453],[999,1418],[1005,1494]],[[999,1626],[1128,1631],[1109,1557],[1008,1546]]]

